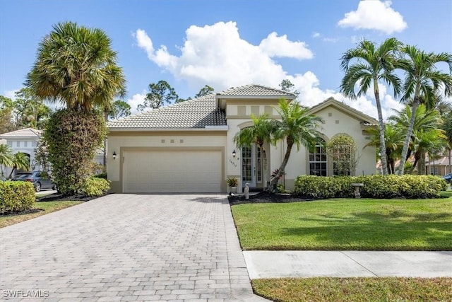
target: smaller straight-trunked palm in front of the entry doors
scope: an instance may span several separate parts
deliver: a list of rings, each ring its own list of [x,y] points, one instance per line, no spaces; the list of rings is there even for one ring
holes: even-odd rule
[[[251,115],[253,125],[241,129],[234,136],[234,144],[238,149],[242,146],[250,147],[251,144],[257,144],[262,151],[263,159],[263,184],[264,189],[267,185],[267,153],[264,144],[272,142],[272,134],[275,132],[275,121],[270,120],[268,115],[256,117]]]

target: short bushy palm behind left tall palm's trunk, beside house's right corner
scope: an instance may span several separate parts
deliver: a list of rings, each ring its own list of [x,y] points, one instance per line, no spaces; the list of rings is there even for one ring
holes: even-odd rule
[[[367,143],[365,147],[367,146],[374,146],[379,150],[380,147],[380,132],[378,128],[371,128],[369,129],[370,140],[369,143]],[[398,159],[398,156],[400,156],[400,151],[403,146],[403,139],[405,137],[405,134],[401,131],[400,127],[396,126],[395,124],[386,124],[385,125],[385,131],[384,131],[384,139],[385,139],[385,146],[386,151],[384,154],[386,154],[386,158],[388,160],[388,173],[393,174],[396,173],[395,170],[395,164],[396,160]],[[383,154],[381,150],[379,151],[380,156]]]

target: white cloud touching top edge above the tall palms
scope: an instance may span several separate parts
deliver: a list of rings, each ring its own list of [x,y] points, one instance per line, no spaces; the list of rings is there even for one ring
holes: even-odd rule
[[[345,18],[338,22],[343,28],[380,30],[390,35],[401,32],[408,27],[403,16],[391,8],[391,1],[362,0],[356,11],[345,13]]]

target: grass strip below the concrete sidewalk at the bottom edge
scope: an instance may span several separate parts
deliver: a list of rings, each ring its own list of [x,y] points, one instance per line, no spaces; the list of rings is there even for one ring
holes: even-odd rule
[[[256,279],[271,301],[452,301],[452,278]]]

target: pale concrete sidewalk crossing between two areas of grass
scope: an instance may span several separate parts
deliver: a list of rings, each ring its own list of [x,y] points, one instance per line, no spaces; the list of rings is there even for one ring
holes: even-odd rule
[[[250,279],[452,277],[452,251],[244,251]]]

